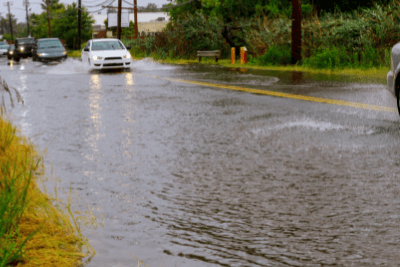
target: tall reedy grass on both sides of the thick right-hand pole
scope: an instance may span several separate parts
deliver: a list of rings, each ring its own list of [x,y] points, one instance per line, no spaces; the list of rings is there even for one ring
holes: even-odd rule
[[[291,21],[287,17],[253,18],[240,23],[251,25],[244,31],[253,57],[290,44]],[[400,41],[400,2],[376,4],[351,13],[324,13],[321,17],[315,13],[303,19],[302,31],[306,66],[390,67],[390,49]]]

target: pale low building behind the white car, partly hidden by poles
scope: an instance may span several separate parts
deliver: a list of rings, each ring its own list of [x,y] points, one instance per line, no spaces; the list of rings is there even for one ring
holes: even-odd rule
[[[156,32],[161,32],[169,21],[169,16],[166,12],[138,12],[138,31],[139,35],[154,35]],[[93,38],[99,34],[103,36],[106,29],[104,21],[107,19],[107,14],[92,15],[95,20],[93,24]],[[135,22],[133,13],[129,13],[129,21]],[[106,34],[109,36],[109,33]]]

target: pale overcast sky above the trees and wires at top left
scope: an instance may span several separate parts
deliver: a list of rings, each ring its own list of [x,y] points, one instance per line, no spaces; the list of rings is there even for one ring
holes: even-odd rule
[[[78,0],[60,0],[60,3],[64,3],[64,4],[71,4],[72,2],[77,2]],[[103,3],[105,0],[81,0],[82,1],[82,5],[84,6],[85,4],[87,6],[94,6],[94,5],[98,5]],[[133,0],[126,0],[127,2],[131,2],[133,4]],[[8,8],[6,5],[7,1],[1,0],[1,6],[0,6],[0,16],[2,17],[7,17],[8,14]],[[25,11],[25,6],[23,5],[24,0],[10,0],[10,2],[12,2],[12,6],[10,6],[11,8],[11,14],[15,15],[15,17],[17,18],[18,22],[26,22],[26,11]],[[41,0],[29,0],[30,6],[29,9],[31,9],[31,11],[29,11],[29,13],[41,13],[42,12],[42,8],[40,7],[40,3]],[[138,6],[147,6],[148,3],[154,3],[156,4],[158,7],[161,7],[164,4],[168,4],[169,2],[167,0],[137,0],[137,4]],[[118,5],[118,1],[115,1],[113,4],[113,6],[117,6]],[[128,4],[122,2],[122,6],[123,7],[131,7]],[[96,11],[99,10],[99,7],[91,7],[91,8],[87,8],[89,11]],[[92,14],[98,14],[96,13],[92,13]],[[101,14],[106,14],[106,10],[102,10]]]

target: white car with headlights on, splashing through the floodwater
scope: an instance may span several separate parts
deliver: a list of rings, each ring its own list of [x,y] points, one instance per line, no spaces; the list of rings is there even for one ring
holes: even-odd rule
[[[92,39],[82,50],[82,62],[87,62],[91,69],[130,68],[131,54],[124,44],[113,38]]]

